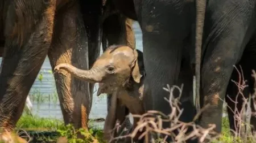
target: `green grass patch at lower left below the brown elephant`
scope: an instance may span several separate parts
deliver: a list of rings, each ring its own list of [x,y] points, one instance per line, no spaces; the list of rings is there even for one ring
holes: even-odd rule
[[[89,122],[90,126],[93,126],[93,122]],[[103,132],[100,128],[90,128],[89,131],[85,129],[76,130],[72,125],[64,125],[62,120],[52,118],[40,118],[38,116],[31,116],[23,114],[16,124],[15,129],[19,135],[26,138],[26,131],[32,138],[31,142],[56,142],[57,138],[64,136],[69,142],[87,143],[92,142],[93,138],[100,142],[102,140]],[[85,140],[77,138],[77,135],[85,136]]]

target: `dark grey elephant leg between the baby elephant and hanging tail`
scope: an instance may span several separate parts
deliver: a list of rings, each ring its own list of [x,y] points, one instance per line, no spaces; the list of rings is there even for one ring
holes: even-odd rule
[[[139,10],[143,15],[139,23],[143,33],[144,67],[147,74],[144,80],[143,102],[145,106],[152,105],[152,107],[145,107],[146,110],[156,110],[169,115],[172,109],[165,98],[169,99],[170,93],[163,90],[163,87],[166,87],[167,84],[180,86],[178,84],[181,81],[188,82],[192,79],[189,76],[180,79],[179,76],[180,71],[183,71],[181,69],[183,53],[188,53],[185,50],[185,44],[189,42],[188,37],[191,33],[192,21],[189,20],[189,17],[192,15],[188,10],[191,3],[188,2],[183,5],[182,10],[181,7],[169,5],[164,1],[145,1],[142,5],[144,4],[147,6],[143,6]],[[184,88],[184,90],[192,89],[192,84],[185,84],[184,86],[191,86],[191,88]],[[184,90],[185,93],[191,92]],[[176,93],[174,93],[175,97],[178,96]],[[186,97],[184,94],[182,96]],[[147,103],[146,99],[152,102]],[[191,110],[187,109],[186,106],[183,107],[184,111]],[[190,114],[191,112],[188,117]],[[188,118],[184,114],[180,120],[185,121]],[[170,128],[170,123],[164,122],[163,128]],[[167,139],[167,142],[170,140],[171,137]]]

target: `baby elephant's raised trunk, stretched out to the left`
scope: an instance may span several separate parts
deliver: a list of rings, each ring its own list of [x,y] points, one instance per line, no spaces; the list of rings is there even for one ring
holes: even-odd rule
[[[59,64],[55,67],[55,70],[63,69],[77,79],[88,81],[89,83],[101,83],[104,77],[104,72],[97,67],[92,67],[90,70],[80,70],[72,66],[71,64]]]

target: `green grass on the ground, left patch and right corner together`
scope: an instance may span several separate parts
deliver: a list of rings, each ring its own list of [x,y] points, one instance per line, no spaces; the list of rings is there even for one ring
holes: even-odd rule
[[[93,122],[90,120],[89,126],[93,126]],[[84,129],[76,130],[72,125],[64,125],[62,120],[52,118],[39,118],[38,116],[30,116],[23,114],[16,124],[16,129],[24,129],[27,131],[34,140],[32,142],[56,142],[60,136],[68,138],[69,142],[81,142],[87,143],[92,142],[92,138],[96,138],[100,142],[102,140],[103,132],[101,128],[90,128],[89,131]],[[38,133],[40,132],[40,133]],[[81,133],[84,135],[86,140],[77,138],[77,135]],[[93,136],[92,136],[93,135]],[[222,133],[218,140],[212,141],[213,143],[225,142],[225,143],[253,143],[255,140],[250,137],[246,138],[235,138],[229,131],[229,120],[228,118],[222,118]]]

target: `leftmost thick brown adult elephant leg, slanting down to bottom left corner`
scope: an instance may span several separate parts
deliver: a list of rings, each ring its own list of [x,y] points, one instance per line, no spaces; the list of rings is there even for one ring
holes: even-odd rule
[[[23,2],[24,7],[19,7],[19,3],[16,8],[23,11],[23,8],[29,8],[27,6],[30,4]],[[6,18],[5,53],[0,75],[0,128],[6,133],[2,136],[14,130],[22,115],[28,92],[48,53],[55,16],[55,1],[36,3],[43,9],[35,9],[33,14],[29,13],[30,9],[26,9],[28,13],[22,13],[24,18],[19,17],[20,13],[14,5],[16,3],[9,7],[9,15]],[[36,15],[42,16],[40,20]]]

